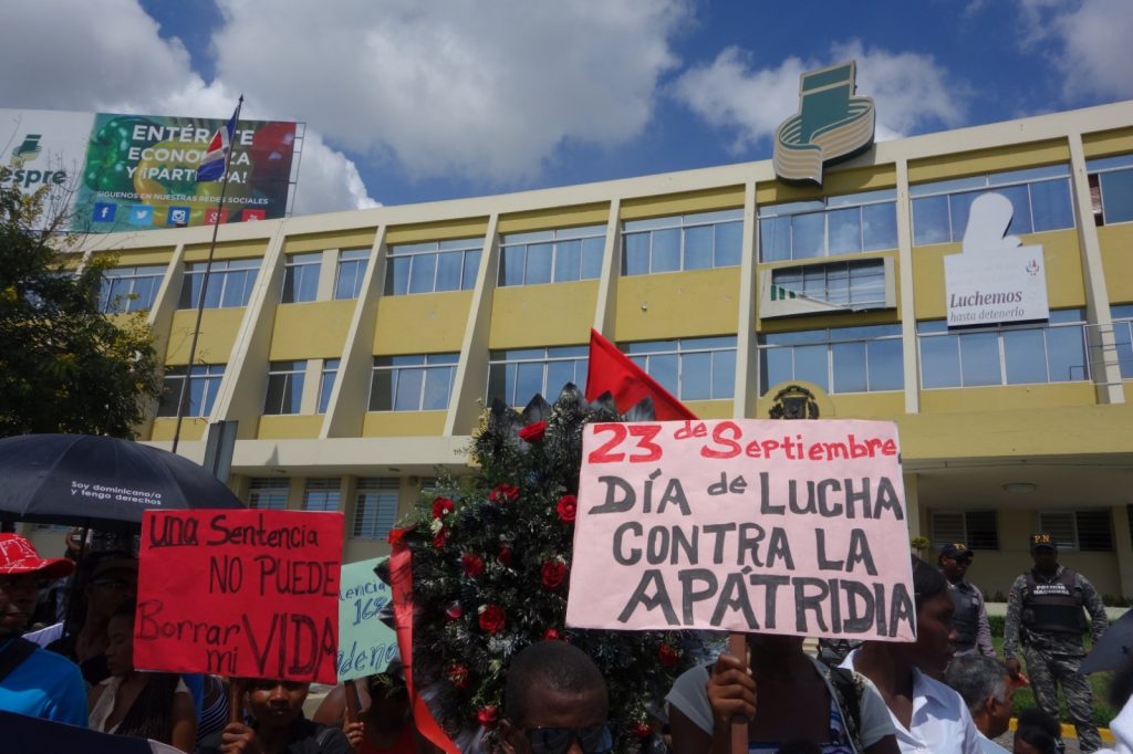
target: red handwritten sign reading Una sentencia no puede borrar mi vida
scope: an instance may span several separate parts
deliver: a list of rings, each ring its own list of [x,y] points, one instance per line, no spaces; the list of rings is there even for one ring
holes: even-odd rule
[[[146,511],[134,663],[333,684],[342,514]]]

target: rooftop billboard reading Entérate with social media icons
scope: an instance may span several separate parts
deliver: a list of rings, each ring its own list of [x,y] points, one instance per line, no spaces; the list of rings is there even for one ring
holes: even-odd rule
[[[282,217],[298,125],[241,120],[224,203],[196,180],[219,118],[0,110],[0,185],[70,191],[70,229],[108,233]]]

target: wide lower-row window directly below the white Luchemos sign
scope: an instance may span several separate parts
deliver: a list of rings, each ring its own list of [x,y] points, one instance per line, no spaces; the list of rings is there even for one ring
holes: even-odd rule
[[[1067,383],[1090,378],[1082,309],[1050,312],[1049,324],[949,332],[917,323],[921,387]]]

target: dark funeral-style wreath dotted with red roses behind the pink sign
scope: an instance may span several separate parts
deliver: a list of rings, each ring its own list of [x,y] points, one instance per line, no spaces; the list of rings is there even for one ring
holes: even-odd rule
[[[651,405],[639,409],[648,412],[640,418],[651,418]],[[603,671],[623,752],[644,751],[650,711],[679,672],[702,661],[693,632],[568,628],[569,579],[545,583],[548,569],[554,576],[571,562],[573,516],[560,506],[578,492],[582,428],[624,420],[611,402],[586,403],[573,385],[553,406],[539,396],[522,414],[495,405],[472,444],[477,473],[442,478],[440,491],[392,532],[412,551],[414,672],[436,694],[431,708],[454,737],[469,735],[491,711],[505,716],[500,708],[511,657],[548,634],[581,648]],[[544,421],[543,436],[531,437]],[[503,617],[495,632],[491,620],[482,623],[493,607]]]

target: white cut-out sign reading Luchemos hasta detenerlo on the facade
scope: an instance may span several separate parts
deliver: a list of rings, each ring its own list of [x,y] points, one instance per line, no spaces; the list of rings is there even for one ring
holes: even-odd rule
[[[1002,194],[983,194],[969,211],[961,254],[944,258],[948,326],[1046,319],[1046,260],[1041,246],[1007,235],[1014,207]]]

